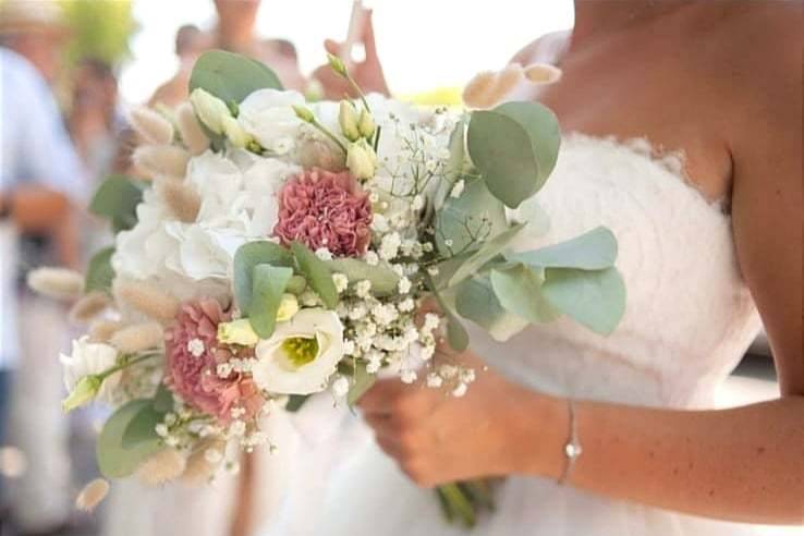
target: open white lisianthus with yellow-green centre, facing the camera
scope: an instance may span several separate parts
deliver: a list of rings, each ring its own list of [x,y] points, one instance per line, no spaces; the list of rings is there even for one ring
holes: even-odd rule
[[[278,394],[322,391],[343,356],[343,325],[322,308],[302,309],[257,343],[252,368],[260,389]]]

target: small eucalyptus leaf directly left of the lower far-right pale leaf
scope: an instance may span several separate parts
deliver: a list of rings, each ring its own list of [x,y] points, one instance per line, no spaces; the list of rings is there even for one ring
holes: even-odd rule
[[[533,268],[515,264],[492,269],[491,288],[500,304],[514,315],[534,324],[550,322],[560,315],[541,294],[544,279]]]

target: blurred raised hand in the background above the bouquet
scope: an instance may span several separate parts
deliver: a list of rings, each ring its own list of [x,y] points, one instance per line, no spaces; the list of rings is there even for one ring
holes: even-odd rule
[[[352,62],[349,73],[357,83],[363,93],[380,93],[389,95],[382,65],[377,57],[377,46],[374,41],[374,25],[369,12],[363,20],[363,46],[366,58],[361,62]],[[327,52],[340,56],[341,44],[327,39],[324,42]],[[313,77],[324,86],[324,96],[330,100],[342,99],[344,96],[356,97],[352,87],[341,76],[336,74],[329,64],[324,64],[313,72]]]

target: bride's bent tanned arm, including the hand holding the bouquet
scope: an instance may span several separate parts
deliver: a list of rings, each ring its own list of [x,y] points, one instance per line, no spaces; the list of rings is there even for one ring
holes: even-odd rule
[[[583,454],[568,485],[723,520],[804,524],[802,134],[801,100],[790,95],[796,78],[790,78],[792,87],[767,100],[777,106],[740,119],[771,124],[773,135],[734,124],[746,137],[730,141],[738,253],[782,398],[720,411],[575,402]],[[759,114],[764,121],[752,120]],[[382,449],[424,486],[510,474],[557,479],[567,463],[567,401],[491,371],[464,399],[382,381],[361,405]]]

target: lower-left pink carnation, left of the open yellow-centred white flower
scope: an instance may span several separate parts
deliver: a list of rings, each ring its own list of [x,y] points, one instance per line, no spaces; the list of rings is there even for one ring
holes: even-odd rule
[[[253,356],[251,349],[235,355],[218,344],[218,324],[230,318],[216,300],[187,302],[165,336],[166,383],[184,402],[215,415],[223,424],[231,421],[233,409],[243,409],[242,418],[251,418],[264,404],[251,377],[235,371],[227,378],[218,376],[219,364]]]

